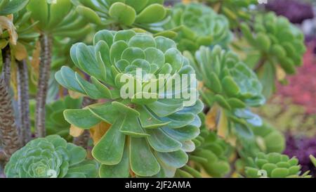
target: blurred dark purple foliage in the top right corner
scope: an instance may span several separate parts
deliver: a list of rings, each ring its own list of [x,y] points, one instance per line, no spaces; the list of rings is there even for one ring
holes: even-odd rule
[[[312,6],[296,0],[269,1],[265,8],[287,17],[291,23],[302,23],[303,20],[314,18]]]

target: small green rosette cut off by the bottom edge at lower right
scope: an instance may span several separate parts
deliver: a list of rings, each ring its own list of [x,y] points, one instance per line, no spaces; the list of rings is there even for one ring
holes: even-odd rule
[[[279,153],[258,153],[256,158],[249,159],[246,177],[310,177],[308,172],[301,174],[300,169],[301,165],[298,165],[296,158],[290,159],[289,156]]]

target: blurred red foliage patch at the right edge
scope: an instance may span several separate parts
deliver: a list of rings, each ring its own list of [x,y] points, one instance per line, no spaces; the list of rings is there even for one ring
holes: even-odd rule
[[[277,84],[277,94],[291,98],[296,104],[303,105],[306,113],[316,113],[316,43],[308,44],[303,58],[303,65],[298,68],[296,75],[287,77],[289,84]]]

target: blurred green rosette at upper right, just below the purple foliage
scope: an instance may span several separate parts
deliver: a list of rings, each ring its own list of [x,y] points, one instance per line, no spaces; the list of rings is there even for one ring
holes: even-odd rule
[[[287,18],[275,13],[256,15],[254,32],[243,23],[241,30],[246,40],[261,52],[261,59],[270,65],[280,65],[288,74],[296,72],[305,52],[303,33]]]

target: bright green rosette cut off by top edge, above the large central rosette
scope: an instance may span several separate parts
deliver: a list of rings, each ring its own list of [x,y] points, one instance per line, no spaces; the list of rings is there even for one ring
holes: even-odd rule
[[[164,0],[75,0],[77,12],[91,23],[119,29],[136,27],[159,32],[167,18]]]

